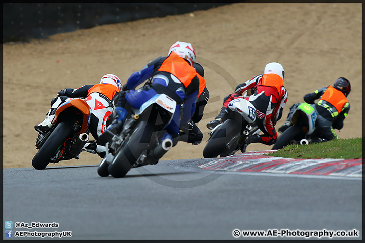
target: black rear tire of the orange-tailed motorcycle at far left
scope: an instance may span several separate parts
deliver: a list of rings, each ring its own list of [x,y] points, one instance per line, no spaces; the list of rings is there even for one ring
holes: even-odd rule
[[[52,131],[40,150],[35,154],[32,160],[32,166],[37,170],[43,170],[50,163],[51,158],[55,155],[58,148],[69,137],[72,126],[65,121],[62,121]]]

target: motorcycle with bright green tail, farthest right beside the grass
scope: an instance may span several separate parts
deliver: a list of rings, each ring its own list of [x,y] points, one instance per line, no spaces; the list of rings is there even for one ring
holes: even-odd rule
[[[300,103],[293,115],[291,116],[291,124],[277,139],[272,149],[280,149],[288,144],[307,145],[311,138],[316,140],[320,136],[316,133],[316,119],[318,117],[316,109],[307,103]]]

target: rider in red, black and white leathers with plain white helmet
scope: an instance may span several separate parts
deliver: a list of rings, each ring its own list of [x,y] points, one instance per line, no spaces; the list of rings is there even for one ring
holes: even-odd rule
[[[245,83],[239,84],[234,93],[224,98],[220,113],[207,124],[207,127],[213,129],[218,124],[223,123],[230,116],[229,102],[237,98],[244,98],[257,109],[255,124],[264,133],[263,135],[249,136],[246,144],[274,144],[278,137],[275,124],[280,120],[287,102],[284,75],[284,68],[280,63],[266,64],[264,74],[256,75]],[[247,97],[242,96],[244,92],[247,92]]]

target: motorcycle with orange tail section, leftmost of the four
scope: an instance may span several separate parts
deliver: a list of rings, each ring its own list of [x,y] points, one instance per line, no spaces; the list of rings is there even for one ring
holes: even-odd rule
[[[49,163],[79,158],[89,139],[91,108],[84,99],[70,98],[55,113],[55,123],[44,133],[38,133],[38,152],[32,160],[35,169],[42,170]]]

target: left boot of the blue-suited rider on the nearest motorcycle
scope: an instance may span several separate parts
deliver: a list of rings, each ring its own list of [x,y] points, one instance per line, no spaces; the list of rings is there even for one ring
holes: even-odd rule
[[[105,145],[109,140],[113,138],[115,134],[122,131],[124,120],[128,116],[128,111],[122,107],[116,107],[112,116],[112,123],[99,137],[98,143]]]

